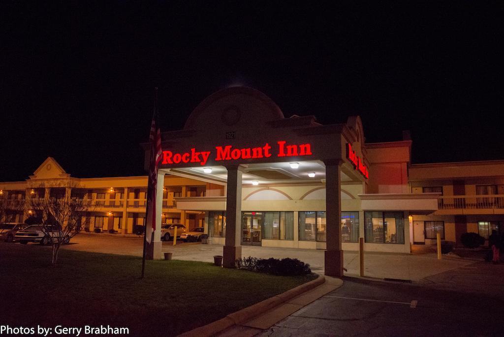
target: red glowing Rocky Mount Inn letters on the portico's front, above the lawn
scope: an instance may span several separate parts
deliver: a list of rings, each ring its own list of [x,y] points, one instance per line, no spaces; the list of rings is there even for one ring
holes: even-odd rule
[[[293,157],[311,155],[310,144],[287,144],[286,141],[277,142],[276,156],[277,157]],[[257,159],[269,158],[273,154],[272,147],[266,143],[260,147],[245,147],[233,148],[232,145],[216,146],[215,161],[221,160],[237,160],[237,159]],[[162,164],[179,164],[179,163],[197,163],[205,165],[212,151],[196,151],[192,148],[191,151],[185,153],[173,153],[172,151],[163,151]]]

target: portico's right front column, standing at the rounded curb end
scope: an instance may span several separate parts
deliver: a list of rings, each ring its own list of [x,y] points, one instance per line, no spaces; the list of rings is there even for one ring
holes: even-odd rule
[[[326,217],[327,248],[325,274],[343,276],[343,251],[341,250],[341,159],[326,160]]]

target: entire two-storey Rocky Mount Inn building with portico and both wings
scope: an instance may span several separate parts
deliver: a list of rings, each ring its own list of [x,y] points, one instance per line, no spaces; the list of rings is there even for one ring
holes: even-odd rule
[[[409,253],[437,233],[457,245],[466,232],[487,238],[504,221],[504,161],[411,164],[407,133],[366,143],[359,117],[335,125],[285,118],[251,88],[212,94],[183,130],[161,138],[157,223],[204,227],[229,267],[242,245],[324,249],[325,273],[341,275],[343,251],[358,250],[359,237],[366,251]],[[2,197],[20,202],[92,199],[84,228],[125,234],[144,223],[146,186],[147,177],[73,178],[53,158],[24,182],[0,183]],[[25,218],[14,211],[11,220]],[[160,226],[149,250],[160,257]]]

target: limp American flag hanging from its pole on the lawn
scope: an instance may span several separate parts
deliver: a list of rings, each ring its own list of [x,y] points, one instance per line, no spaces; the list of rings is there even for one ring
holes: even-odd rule
[[[151,243],[152,233],[156,230],[156,188],[157,188],[157,165],[161,160],[161,131],[159,130],[157,108],[157,88],[154,90],[154,115],[152,116],[151,134],[151,157],[149,160],[149,182],[147,186],[147,223],[146,240]]]

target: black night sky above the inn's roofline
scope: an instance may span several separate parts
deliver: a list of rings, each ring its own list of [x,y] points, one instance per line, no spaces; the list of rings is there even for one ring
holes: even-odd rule
[[[413,163],[504,159],[501,2],[313,3],[3,1],[0,181],[47,156],[145,175],[155,86],[162,131],[246,85],[286,117],[360,115],[367,142],[411,130]]]

